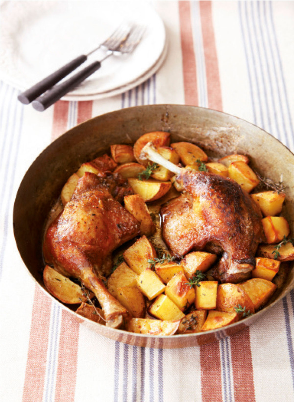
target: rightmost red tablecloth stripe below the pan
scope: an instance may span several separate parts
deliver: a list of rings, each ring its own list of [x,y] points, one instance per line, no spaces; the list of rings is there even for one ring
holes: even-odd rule
[[[235,401],[254,402],[254,378],[248,327],[231,336],[231,356]]]

